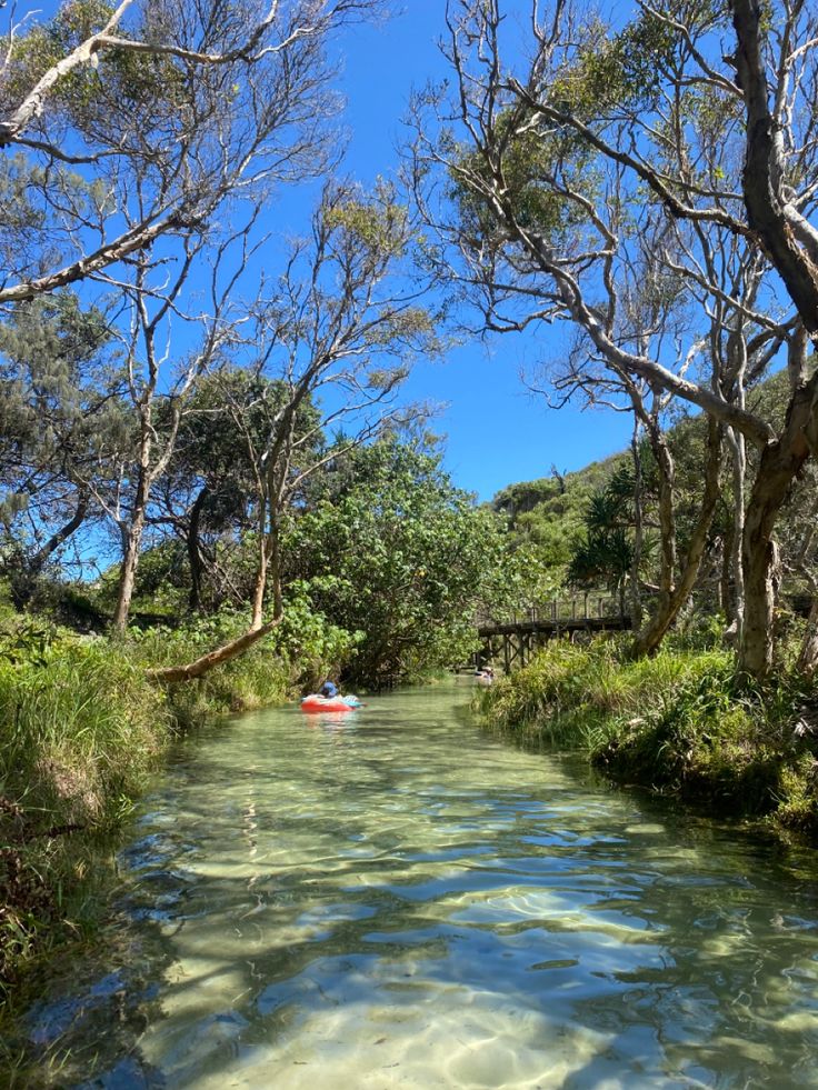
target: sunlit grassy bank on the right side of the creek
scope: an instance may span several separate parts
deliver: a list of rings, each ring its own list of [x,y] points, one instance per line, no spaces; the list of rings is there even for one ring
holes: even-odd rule
[[[553,642],[479,697],[487,722],[587,751],[618,782],[762,818],[818,840],[818,686],[737,678],[721,648]]]

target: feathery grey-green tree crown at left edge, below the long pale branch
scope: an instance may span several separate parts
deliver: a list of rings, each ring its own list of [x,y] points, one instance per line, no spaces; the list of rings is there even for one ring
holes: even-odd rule
[[[61,292],[0,326],[0,510],[19,604],[46,564],[101,511],[93,491],[123,432],[123,376],[103,313]]]

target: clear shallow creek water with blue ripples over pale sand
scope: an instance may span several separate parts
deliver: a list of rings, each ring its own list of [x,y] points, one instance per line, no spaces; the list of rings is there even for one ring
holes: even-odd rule
[[[144,1024],[83,1087],[818,1086],[814,874],[468,696],[190,742],[122,852]]]

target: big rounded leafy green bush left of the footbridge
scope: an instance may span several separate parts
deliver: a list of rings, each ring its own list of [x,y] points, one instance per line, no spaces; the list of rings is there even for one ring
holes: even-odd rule
[[[438,457],[395,441],[355,453],[345,491],[295,521],[287,551],[315,608],[362,633],[349,669],[366,683],[459,661],[478,606],[507,590],[497,518]]]

